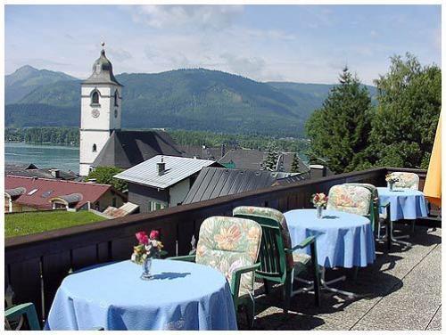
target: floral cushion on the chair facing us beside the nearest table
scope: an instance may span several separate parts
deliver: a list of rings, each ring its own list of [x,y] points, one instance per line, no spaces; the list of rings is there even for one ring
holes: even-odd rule
[[[235,269],[252,266],[259,255],[261,227],[238,217],[208,217],[200,227],[195,262],[219,270],[231,283]],[[239,296],[252,292],[253,272],[242,274]]]

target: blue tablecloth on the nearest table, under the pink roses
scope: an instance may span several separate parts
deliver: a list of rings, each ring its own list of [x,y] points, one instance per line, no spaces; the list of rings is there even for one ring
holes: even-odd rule
[[[130,261],[67,276],[45,329],[236,330],[235,308],[223,274],[209,267],[153,260],[154,279],[139,278]]]

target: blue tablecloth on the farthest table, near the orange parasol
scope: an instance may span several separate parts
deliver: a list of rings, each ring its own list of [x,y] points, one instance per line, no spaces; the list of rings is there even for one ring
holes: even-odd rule
[[[391,220],[415,220],[427,217],[427,206],[423,192],[397,188],[390,191],[387,187],[377,187],[380,203],[390,202]],[[381,208],[383,211],[383,208]]]

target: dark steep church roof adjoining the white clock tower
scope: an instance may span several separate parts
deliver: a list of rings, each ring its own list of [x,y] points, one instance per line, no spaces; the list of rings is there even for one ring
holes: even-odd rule
[[[93,166],[129,168],[156,155],[182,156],[166,132],[114,130]]]

